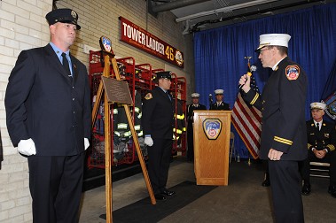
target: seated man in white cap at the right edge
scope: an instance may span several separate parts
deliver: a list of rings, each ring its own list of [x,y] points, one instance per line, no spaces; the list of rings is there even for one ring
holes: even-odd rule
[[[324,103],[310,104],[312,119],[307,121],[308,158],[303,161],[301,174],[303,179],[302,195],[310,194],[309,162],[329,163],[330,184],[328,192],[336,197],[336,130],[335,125],[323,119]]]

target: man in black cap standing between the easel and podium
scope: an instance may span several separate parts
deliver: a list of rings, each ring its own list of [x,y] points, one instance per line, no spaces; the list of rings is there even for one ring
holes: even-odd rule
[[[171,72],[158,72],[158,87],[145,95],[142,124],[145,144],[148,146],[148,174],[157,200],[175,195],[166,188],[168,168],[173,145],[174,104],[168,89]]]

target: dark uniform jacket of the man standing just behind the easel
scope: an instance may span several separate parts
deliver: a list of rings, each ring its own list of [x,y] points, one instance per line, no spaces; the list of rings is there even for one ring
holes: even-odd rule
[[[168,94],[160,87],[147,93],[143,104],[144,135],[152,138],[173,139],[174,108]]]

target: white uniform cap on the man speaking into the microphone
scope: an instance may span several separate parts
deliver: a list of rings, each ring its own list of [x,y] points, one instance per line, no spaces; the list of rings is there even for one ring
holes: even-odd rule
[[[261,50],[264,46],[284,46],[288,48],[288,42],[291,39],[290,35],[286,34],[267,34],[260,35],[259,47],[257,50]],[[256,50],[256,51],[257,51]]]

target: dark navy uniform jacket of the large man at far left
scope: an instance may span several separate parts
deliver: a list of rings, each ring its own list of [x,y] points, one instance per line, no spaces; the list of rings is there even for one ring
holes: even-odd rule
[[[85,65],[70,57],[73,78],[50,44],[20,53],[4,100],[14,146],[31,138],[36,156],[84,151],[84,138],[90,139],[90,86]]]

